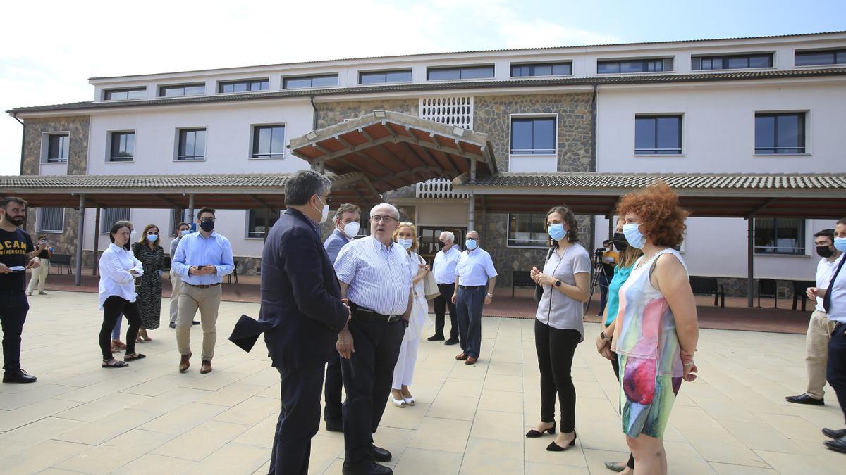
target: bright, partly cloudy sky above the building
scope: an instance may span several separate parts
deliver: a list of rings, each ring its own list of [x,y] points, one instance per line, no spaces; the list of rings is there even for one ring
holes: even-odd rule
[[[50,0],[0,11],[0,112],[89,101],[91,76],[846,30],[843,0]],[[0,117],[0,175],[19,172],[21,129]]]

